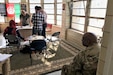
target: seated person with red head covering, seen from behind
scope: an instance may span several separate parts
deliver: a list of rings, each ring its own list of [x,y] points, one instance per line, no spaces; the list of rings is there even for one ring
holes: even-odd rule
[[[3,36],[6,37],[6,35],[15,35],[25,41],[25,39],[20,35],[19,30],[16,28],[14,20],[10,20],[9,26],[5,28]]]

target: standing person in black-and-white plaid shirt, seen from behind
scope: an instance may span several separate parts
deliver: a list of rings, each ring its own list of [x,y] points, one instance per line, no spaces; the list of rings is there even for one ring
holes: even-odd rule
[[[40,10],[40,6],[35,6],[35,13],[32,15],[31,20],[31,22],[33,23],[32,35],[42,35],[43,23],[45,22],[45,19],[44,15],[40,12]]]

